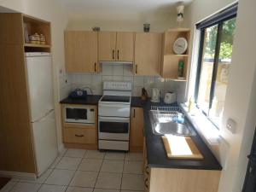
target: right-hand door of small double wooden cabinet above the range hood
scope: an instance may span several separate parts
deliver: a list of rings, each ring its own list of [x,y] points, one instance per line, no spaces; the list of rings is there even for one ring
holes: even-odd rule
[[[117,32],[116,61],[133,61],[134,33]]]

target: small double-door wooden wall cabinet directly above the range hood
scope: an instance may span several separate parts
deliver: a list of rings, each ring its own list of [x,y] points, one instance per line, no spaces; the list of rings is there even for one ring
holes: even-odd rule
[[[99,32],[99,61],[132,62],[133,58],[133,32]]]

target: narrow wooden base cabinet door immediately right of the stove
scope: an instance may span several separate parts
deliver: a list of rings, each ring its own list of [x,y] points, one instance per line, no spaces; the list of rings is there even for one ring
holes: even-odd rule
[[[143,108],[131,108],[130,150],[143,151]]]

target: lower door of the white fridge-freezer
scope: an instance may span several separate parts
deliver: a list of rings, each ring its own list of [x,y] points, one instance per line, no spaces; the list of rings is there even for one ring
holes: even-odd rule
[[[32,123],[38,176],[49,168],[58,154],[55,130],[54,110],[51,110],[42,119]]]

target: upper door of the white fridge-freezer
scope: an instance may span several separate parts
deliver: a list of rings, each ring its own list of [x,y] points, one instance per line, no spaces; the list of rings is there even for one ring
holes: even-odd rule
[[[32,122],[54,108],[51,56],[26,57]]]

